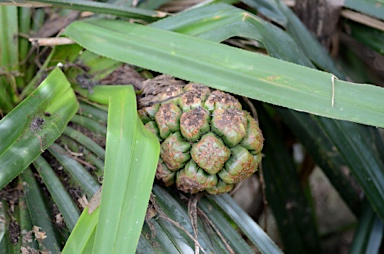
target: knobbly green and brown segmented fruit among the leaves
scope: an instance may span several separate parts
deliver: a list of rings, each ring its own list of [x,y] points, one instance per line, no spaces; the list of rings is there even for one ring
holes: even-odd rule
[[[139,116],[161,143],[156,178],[220,194],[257,171],[263,135],[230,94],[161,75],[143,83]]]

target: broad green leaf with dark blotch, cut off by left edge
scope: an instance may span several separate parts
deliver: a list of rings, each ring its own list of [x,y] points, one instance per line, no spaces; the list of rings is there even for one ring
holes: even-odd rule
[[[0,121],[0,188],[63,132],[78,103],[60,69]]]

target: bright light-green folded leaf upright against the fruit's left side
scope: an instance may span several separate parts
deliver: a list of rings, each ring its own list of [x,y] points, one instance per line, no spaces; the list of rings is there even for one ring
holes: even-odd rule
[[[108,88],[95,87],[93,95]],[[95,253],[135,251],[160,151],[157,138],[137,118],[133,87],[116,89],[113,97],[105,95],[107,149]]]

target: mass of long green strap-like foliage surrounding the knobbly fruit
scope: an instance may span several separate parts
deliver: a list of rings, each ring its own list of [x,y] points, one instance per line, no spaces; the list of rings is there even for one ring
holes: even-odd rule
[[[253,99],[251,107],[256,107],[266,137],[265,194],[284,251],[320,252],[322,238],[308,178],[299,177],[312,168],[295,164],[282,126],[290,128],[358,218],[351,251],[378,251],[384,146],[380,129],[361,124],[384,126],[384,91],[342,81],[345,76],[380,81],[380,73],[366,77],[360,72],[366,68],[363,59],[350,47],[335,62],[280,1],[247,0],[240,7],[211,3],[237,1],[209,1],[175,16],[150,10],[171,1],[139,1],[135,8],[134,1],[125,7],[117,7],[123,4],[119,1],[37,2],[114,16],[69,25],[64,35],[78,44],[56,46],[37,70],[30,61],[42,57],[17,35],[41,27],[44,11],[0,6],[0,109],[5,114],[0,122],[1,251],[59,252],[65,245],[64,253],[248,253],[253,251],[250,244],[263,253],[280,252],[229,195],[198,200],[154,185],[150,198],[159,148],[137,120],[132,86],[93,87],[123,62],[145,77],[166,73]],[[382,7],[363,2],[346,1],[345,7],[383,19],[376,10]],[[384,52],[382,31],[349,19],[342,23],[349,39],[377,55]],[[225,40],[229,46],[220,43]],[[54,68],[58,63],[62,71]],[[101,179],[101,201],[96,195],[79,217],[82,200],[97,192]],[[52,223],[52,213],[62,226]],[[18,232],[28,234],[23,240]]]

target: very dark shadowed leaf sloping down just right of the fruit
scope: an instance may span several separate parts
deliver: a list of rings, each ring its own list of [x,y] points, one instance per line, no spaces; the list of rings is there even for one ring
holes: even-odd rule
[[[258,116],[265,135],[263,176],[268,204],[275,215],[287,253],[320,253],[314,212],[306,198],[292,156],[276,124],[262,108]]]

